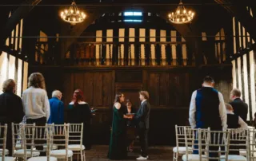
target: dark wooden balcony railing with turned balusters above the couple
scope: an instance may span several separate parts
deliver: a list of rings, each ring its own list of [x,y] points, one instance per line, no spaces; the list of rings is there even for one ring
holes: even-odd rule
[[[66,65],[194,65],[185,42],[82,42],[66,53]]]

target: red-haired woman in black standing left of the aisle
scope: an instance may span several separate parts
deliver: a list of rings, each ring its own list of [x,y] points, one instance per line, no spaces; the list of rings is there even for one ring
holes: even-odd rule
[[[83,92],[76,89],[73,94],[73,100],[70,102],[68,112],[68,121],[70,124],[83,123],[82,143],[86,150],[90,149],[90,119],[91,112],[89,104],[83,100]]]

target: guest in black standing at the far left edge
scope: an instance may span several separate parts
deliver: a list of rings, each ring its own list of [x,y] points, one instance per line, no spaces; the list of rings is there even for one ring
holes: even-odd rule
[[[15,81],[6,80],[2,84],[2,94],[0,95],[0,123],[7,124],[6,149],[12,155],[11,123],[18,124],[24,116],[22,99],[15,95]]]

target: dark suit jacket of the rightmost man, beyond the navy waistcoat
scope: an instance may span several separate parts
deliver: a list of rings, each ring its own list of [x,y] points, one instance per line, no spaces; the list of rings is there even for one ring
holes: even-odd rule
[[[230,102],[230,104],[234,109],[234,114],[240,116],[242,120],[246,122],[247,113],[248,113],[248,104],[246,104],[240,98],[234,99],[232,102]]]

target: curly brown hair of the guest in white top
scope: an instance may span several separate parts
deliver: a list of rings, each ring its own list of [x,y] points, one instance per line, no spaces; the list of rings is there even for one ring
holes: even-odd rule
[[[45,78],[42,73],[32,73],[29,77],[29,87],[46,89]]]

